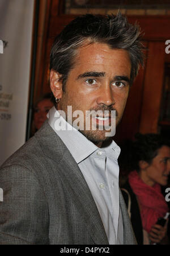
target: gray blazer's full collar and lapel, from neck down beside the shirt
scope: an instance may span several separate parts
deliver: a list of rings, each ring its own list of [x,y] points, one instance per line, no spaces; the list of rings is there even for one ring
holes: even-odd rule
[[[47,122],[40,133],[37,132],[36,137],[41,141],[42,150],[46,156],[57,162],[58,175],[86,222],[90,236],[96,244],[108,244],[103,222],[78,164]]]

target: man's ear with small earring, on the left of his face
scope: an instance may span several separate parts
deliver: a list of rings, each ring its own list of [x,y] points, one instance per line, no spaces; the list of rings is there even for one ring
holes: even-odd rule
[[[62,98],[61,74],[54,71],[53,69],[50,71],[50,88],[51,88],[55,98],[56,97],[57,97],[57,99]]]

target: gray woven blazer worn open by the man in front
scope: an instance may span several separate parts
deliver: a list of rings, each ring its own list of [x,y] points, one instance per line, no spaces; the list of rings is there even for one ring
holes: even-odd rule
[[[0,187],[0,244],[108,244],[82,172],[48,122],[2,165]],[[121,192],[120,207],[124,243],[135,244]]]

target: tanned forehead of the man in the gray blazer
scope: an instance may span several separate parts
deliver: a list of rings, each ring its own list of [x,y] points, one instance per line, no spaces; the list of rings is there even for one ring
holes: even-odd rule
[[[128,51],[125,49],[111,49],[104,43],[92,43],[79,47],[74,60],[74,67],[79,67],[80,73],[98,71],[112,73],[121,69],[117,75],[127,76],[131,69]],[[94,68],[93,68],[94,67]]]

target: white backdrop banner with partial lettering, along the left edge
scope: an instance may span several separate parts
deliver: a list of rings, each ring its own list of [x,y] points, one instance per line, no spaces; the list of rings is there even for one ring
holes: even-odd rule
[[[34,0],[0,0],[0,166],[25,142]]]

